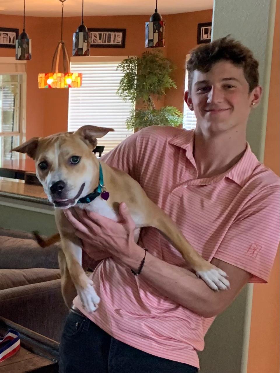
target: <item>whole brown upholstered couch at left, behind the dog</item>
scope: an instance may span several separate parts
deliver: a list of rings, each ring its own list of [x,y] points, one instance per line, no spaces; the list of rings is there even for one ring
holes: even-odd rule
[[[60,288],[59,245],[0,228],[0,316],[59,342],[68,313]]]

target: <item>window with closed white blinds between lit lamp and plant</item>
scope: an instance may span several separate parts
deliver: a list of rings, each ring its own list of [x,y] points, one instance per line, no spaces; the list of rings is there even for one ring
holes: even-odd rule
[[[123,76],[117,66],[124,58],[71,58],[71,71],[82,72],[83,77],[81,88],[69,90],[68,131],[76,131],[83,125],[114,128],[114,132],[98,139],[98,145],[105,146],[104,153],[133,133],[125,124],[133,106],[116,94]]]

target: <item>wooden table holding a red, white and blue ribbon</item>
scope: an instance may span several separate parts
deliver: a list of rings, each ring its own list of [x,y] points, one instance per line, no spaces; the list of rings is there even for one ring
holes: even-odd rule
[[[0,334],[8,329],[20,333],[21,348],[0,363],[0,373],[58,373],[59,343],[0,317]]]

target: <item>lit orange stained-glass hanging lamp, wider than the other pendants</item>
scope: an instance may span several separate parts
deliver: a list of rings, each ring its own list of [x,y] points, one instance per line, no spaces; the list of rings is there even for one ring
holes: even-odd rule
[[[59,0],[62,3],[61,11],[61,37],[54,51],[51,71],[49,73],[40,73],[38,75],[39,88],[80,88],[82,85],[82,73],[70,72],[70,62],[65,43],[63,41],[63,4],[66,0]],[[59,56],[62,51],[63,72],[59,72]],[[54,62],[55,70],[54,69]]]

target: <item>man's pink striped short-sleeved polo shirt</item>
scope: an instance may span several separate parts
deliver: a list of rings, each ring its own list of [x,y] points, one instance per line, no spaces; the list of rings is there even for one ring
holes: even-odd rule
[[[141,129],[103,157],[128,172],[152,201],[177,223],[206,260],[213,257],[267,282],[280,237],[280,179],[258,162],[247,145],[235,166],[198,179],[194,131],[172,127]],[[143,228],[139,245],[168,263],[182,256],[154,228]],[[99,308],[88,314],[108,334],[139,350],[199,367],[196,351],[214,320],[173,302],[130,269],[106,258],[91,276]]]

